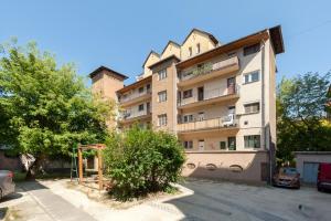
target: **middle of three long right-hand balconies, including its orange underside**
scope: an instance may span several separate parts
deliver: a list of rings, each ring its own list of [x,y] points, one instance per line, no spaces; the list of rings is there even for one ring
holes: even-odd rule
[[[239,98],[239,85],[228,86],[227,88],[206,90],[203,94],[183,98],[178,102],[178,108],[192,108],[202,105],[222,103]]]

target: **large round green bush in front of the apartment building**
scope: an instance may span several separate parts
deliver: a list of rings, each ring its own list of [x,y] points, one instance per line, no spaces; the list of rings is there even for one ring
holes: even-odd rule
[[[134,127],[113,133],[106,144],[106,173],[114,181],[110,193],[119,200],[166,191],[180,178],[184,154],[172,134]]]

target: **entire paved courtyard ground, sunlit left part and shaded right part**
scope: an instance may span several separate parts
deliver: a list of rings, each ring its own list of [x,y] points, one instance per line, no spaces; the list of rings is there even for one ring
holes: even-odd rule
[[[190,180],[183,196],[147,201],[115,210],[66,189],[57,181],[18,185],[18,192],[0,203],[13,209],[13,220],[330,220],[331,193],[302,187],[291,190],[209,180]],[[0,215],[1,220],[1,215]]]

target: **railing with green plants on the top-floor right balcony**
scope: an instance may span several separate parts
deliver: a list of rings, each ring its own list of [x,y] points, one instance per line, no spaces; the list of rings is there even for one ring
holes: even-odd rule
[[[209,73],[212,73],[214,71],[218,71],[218,70],[223,70],[229,66],[234,66],[234,65],[238,65],[239,60],[237,56],[233,56],[226,60],[222,60],[222,61],[217,61],[217,62],[207,62],[204,63],[202,66],[200,67],[195,67],[194,70],[190,71],[190,72],[182,72],[180,74],[180,81],[186,81],[186,80],[191,80],[201,75],[205,75]]]

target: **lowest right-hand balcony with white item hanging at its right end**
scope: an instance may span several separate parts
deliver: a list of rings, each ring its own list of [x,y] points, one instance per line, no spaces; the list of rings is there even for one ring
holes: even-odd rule
[[[234,114],[228,116],[204,119],[197,122],[183,123],[178,125],[178,133],[197,133],[197,131],[211,131],[211,130],[237,130],[238,129],[238,119]]]

